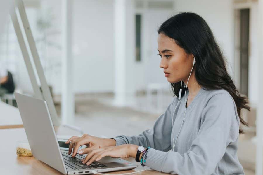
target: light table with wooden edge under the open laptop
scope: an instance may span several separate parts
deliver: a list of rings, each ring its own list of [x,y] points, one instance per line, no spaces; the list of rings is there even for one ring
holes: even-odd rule
[[[60,133],[58,133],[60,134]],[[62,174],[56,169],[53,169],[49,165],[36,160],[34,157],[17,157],[16,155],[16,143],[17,141],[27,140],[24,128],[13,128],[13,129],[0,129],[1,144],[0,144],[0,172],[1,174]],[[128,158],[128,161],[138,164],[134,158]],[[141,167],[139,165],[136,169],[128,171],[117,171],[107,174],[121,174],[134,171],[140,171],[148,169],[149,167]],[[155,174],[166,174],[158,171],[150,170],[136,173],[136,175],[155,175]]]

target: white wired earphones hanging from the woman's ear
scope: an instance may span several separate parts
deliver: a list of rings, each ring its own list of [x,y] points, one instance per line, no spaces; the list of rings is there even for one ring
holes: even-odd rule
[[[193,60],[193,67],[194,67],[194,65],[195,65],[195,57],[194,57],[194,60]],[[189,75],[189,77],[188,77],[188,80],[187,80],[187,83],[186,83],[186,88],[185,88],[185,93],[184,93],[184,103],[185,103],[184,117],[185,117],[185,112],[186,112],[186,99],[185,99],[186,89],[187,89],[187,84],[188,84],[189,78],[190,78],[190,76],[191,76],[193,67],[192,67],[191,72],[190,72],[190,75]],[[181,93],[182,93],[182,81],[181,81],[181,88],[180,88],[179,96],[178,96],[178,99],[179,99],[179,100],[177,101],[177,104],[176,104],[176,106],[175,106],[175,108],[174,108],[174,113],[175,113],[176,107],[177,107],[177,105],[179,104],[179,101],[180,101],[180,99],[181,99]],[[181,131],[181,129],[182,129],[182,126],[183,126],[183,124],[184,124],[184,117],[183,117],[182,125],[181,125],[181,127],[180,127],[180,129],[179,129],[179,132],[178,132],[178,134],[177,134],[177,137],[176,137],[176,139],[175,139],[175,141],[174,141],[174,113],[173,113],[173,115],[172,115],[172,132],[173,132],[173,142],[174,142],[174,143],[173,143],[173,147],[172,147],[172,151],[174,151],[175,143],[176,143],[176,141],[177,141],[177,138],[178,138],[178,136],[179,136],[179,133],[180,133],[180,131]]]

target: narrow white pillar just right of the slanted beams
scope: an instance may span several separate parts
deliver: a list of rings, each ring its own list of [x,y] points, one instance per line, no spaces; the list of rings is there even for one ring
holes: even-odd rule
[[[72,0],[62,3],[62,58],[61,58],[61,119],[63,124],[73,124],[75,117],[75,99],[73,92],[72,59]]]

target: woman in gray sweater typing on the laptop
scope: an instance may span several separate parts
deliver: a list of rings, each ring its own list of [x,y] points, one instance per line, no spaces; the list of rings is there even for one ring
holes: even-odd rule
[[[89,153],[86,164],[104,156],[139,155],[143,166],[166,173],[244,174],[237,150],[243,133],[239,124],[247,123],[240,111],[250,107],[228,74],[211,29],[199,15],[179,13],[165,21],[158,34],[160,68],[178,98],[139,136],[73,136],[66,142],[71,141],[69,154],[73,148],[74,157],[85,144],[89,148],[79,153]],[[139,145],[150,148],[138,150]]]

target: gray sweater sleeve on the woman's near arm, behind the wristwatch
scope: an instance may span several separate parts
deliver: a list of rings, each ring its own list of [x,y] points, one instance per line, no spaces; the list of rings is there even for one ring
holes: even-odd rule
[[[203,109],[200,130],[186,153],[150,148],[143,164],[165,173],[210,175],[226,147],[238,139],[238,133],[239,118],[232,97],[226,93],[217,94]]]

